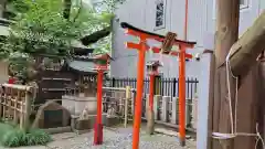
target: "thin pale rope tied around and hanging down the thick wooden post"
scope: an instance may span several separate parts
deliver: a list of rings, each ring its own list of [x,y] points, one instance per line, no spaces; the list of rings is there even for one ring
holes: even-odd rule
[[[258,124],[256,124],[256,134],[248,134],[248,132],[237,132],[236,126],[237,126],[237,103],[239,103],[239,76],[234,76],[231,70],[230,65],[230,55],[231,50],[225,58],[226,62],[226,85],[229,89],[229,106],[230,106],[230,120],[231,120],[231,134],[222,134],[222,132],[212,132],[212,138],[219,139],[219,140],[227,140],[235,138],[237,136],[246,136],[246,137],[256,137],[256,143],[255,149],[257,148],[257,145],[259,140],[262,141],[263,149],[265,149],[264,140],[258,131]],[[232,97],[231,97],[231,84],[230,84],[230,75],[235,79],[235,115],[233,118],[232,113]]]

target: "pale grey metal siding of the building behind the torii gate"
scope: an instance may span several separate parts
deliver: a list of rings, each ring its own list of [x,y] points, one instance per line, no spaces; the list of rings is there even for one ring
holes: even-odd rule
[[[248,7],[241,10],[240,13],[240,34],[252,25],[259,13],[259,7],[264,3],[262,0],[248,0]],[[215,32],[215,0],[190,0],[188,18],[188,40],[195,41],[197,45],[188,53],[195,54],[203,51],[203,36],[205,33]],[[131,41],[124,34],[119,28],[120,22],[129,22],[144,30],[166,34],[168,31],[178,33],[178,38],[184,36],[184,0],[167,0],[166,28],[155,30],[156,0],[129,0],[117,11],[119,22],[114,23],[114,50],[113,56],[116,61],[112,64],[112,75],[117,77],[136,77],[137,75],[137,51],[125,49],[125,42]],[[150,42],[153,44],[153,42]],[[160,72],[166,77],[176,77],[178,75],[178,58],[147,52],[146,61],[158,58],[162,61],[163,67]],[[199,77],[199,71],[203,70],[204,64],[194,60],[187,62],[187,76]],[[203,62],[209,63],[209,62]],[[201,67],[199,67],[201,66]],[[123,71],[120,71],[123,70]]]

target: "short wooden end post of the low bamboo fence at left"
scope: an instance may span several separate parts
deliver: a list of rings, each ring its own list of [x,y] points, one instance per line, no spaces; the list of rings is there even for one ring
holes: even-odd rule
[[[28,132],[30,128],[31,99],[32,99],[32,93],[25,91],[25,113],[24,113],[24,131],[25,132]]]

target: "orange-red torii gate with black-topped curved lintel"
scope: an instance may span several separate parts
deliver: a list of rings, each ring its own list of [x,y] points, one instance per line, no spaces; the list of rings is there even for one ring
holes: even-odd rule
[[[145,57],[146,51],[149,46],[146,44],[148,39],[152,39],[159,42],[163,42],[163,35],[155,34],[151,32],[144,31],[136,26],[132,26],[126,22],[123,22],[121,28],[126,29],[125,33],[140,39],[140,43],[126,43],[127,49],[138,50],[138,67],[137,67],[137,95],[135,102],[135,118],[134,118],[134,132],[132,132],[132,149],[139,148],[139,131],[141,123],[141,98],[142,98],[142,86],[145,77]],[[195,42],[188,42],[174,39],[174,45],[179,45],[180,52],[171,51],[169,53],[163,53],[168,55],[179,56],[179,139],[180,145],[186,145],[186,58],[192,58],[191,54],[186,53],[187,49],[193,49]],[[161,53],[161,47],[152,47],[153,53]]]

